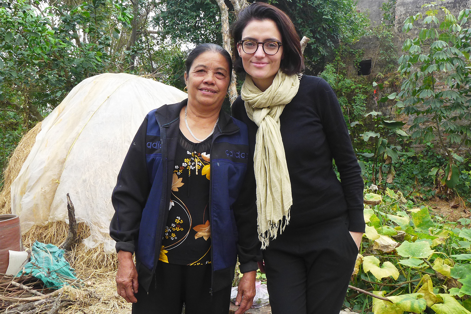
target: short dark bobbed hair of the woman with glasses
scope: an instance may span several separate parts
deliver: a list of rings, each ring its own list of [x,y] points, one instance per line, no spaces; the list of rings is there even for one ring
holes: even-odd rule
[[[242,32],[245,26],[253,20],[272,20],[281,33],[283,41],[284,58],[281,60],[280,69],[285,74],[292,75],[304,70],[304,60],[301,52],[299,35],[294,24],[282,10],[264,2],[254,2],[242,10],[237,21],[231,26],[231,35],[234,38],[234,69],[237,72],[245,72],[242,59],[237,51],[237,43],[242,40]]]

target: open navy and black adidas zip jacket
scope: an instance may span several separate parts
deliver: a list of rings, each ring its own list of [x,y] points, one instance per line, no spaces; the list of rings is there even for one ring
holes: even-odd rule
[[[116,250],[136,254],[139,286],[148,290],[154,276],[162,232],[171,201],[171,182],[179,138],[179,104],[147,114],[124,159],[112,195],[110,235]],[[253,180],[253,156],[247,127],[222,110],[211,147],[210,218],[212,289],[230,285],[237,256],[242,273],[257,270],[261,260]]]

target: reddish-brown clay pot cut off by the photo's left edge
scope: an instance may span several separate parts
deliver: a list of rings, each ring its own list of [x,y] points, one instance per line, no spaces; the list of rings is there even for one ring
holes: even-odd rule
[[[8,268],[8,250],[21,251],[20,217],[18,215],[0,215],[0,273]]]

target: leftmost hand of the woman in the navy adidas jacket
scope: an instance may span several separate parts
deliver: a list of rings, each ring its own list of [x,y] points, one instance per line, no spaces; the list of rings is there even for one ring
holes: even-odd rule
[[[118,272],[116,273],[116,288],[118,294],[126,302],[136,303],[138,300],[134,296],[138,293],[138,272],[132,260],[132,253],[126,251],[118,252]]]

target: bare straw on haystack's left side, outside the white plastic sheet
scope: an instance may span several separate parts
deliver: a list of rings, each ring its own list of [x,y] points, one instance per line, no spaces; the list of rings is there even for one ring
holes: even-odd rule
[[[36,135],[38,135],[39,131],[41,131],[41,122],[38,122],[34,128],[24,135],[8,161],[7,169],[3,173],[5,181],[0,191],[0,215],[11,214],[10,186],[18,176],[26,157],[31,152],[32,145],[36,142]]]

